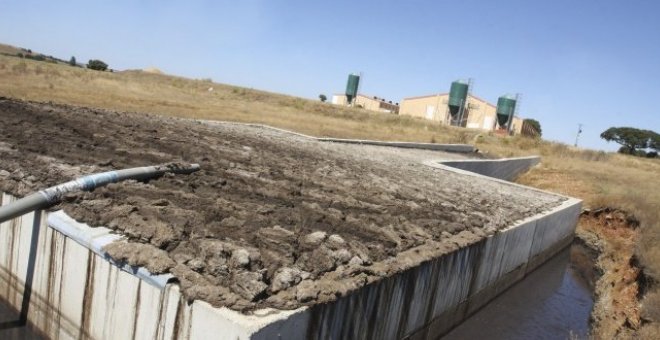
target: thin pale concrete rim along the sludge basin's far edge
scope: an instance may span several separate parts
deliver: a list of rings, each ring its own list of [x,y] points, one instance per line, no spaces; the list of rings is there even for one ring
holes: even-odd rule
[[[346,144],[361,144],[361,145],[375,145],[375,146],[388,146],[394,148],[406,148],[406,149],[421,149],[421,150],[435,150],[435,151],[445,151],[445,152],[454,152],[454,153],[472,153],[475,152],[475,147],[469,144],[435,144],[435,143],[415,143],[415,142],[401,142],[401,141],[379,141],[379,140],[370,140],[370,139],[349,139],[349,138],[331,138],[331,137],[315,137],[310,135],[305,135],[302,133],[294,132],[291,130],[285,130],[276,128],[266,124],[255,124],[255,123],[239,123],[239,122],[229,122],[229,121],[220,121],[220,120],[206,120],[206,119],[197,119],[197,122],[202,122],[205,124],[211,125],[238,125],[238,126],[249,126],[261,129],[268,129],[277,132],[282,132],[306,139],[315,140],[318,142],[333,142],[333,143],[346,143]]]

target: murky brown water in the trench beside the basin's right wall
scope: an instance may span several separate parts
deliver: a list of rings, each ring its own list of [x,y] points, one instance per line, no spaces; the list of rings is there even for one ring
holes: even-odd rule
[[[584,339],[593,306],[589,252],[573,245],[530,273],[448,339]]]

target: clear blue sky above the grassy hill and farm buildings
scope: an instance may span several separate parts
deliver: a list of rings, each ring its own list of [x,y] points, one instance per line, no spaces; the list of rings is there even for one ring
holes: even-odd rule
[[[0,0],[0,43],[111,68],[318,99],[400,102],[473,78],[491,103],[521,93],[546,139],[616,150],[612,126],[660,132],[660,1]],[[0,79],[1,81],[1,79]]]

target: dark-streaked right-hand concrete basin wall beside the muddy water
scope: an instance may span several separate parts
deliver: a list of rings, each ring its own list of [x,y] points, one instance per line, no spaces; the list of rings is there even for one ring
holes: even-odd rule
[[[570,244],[580,204],[569,199],[542,217],[522,221],[335,303],[311,307],[307,337],[432,339],[444,334],[540,265],[538,258],[548,259]]]

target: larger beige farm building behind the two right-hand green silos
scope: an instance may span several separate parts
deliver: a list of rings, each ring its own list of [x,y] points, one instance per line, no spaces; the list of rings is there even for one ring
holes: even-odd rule
[[[450,124],[449,93],[428,96],[409,97],[401,101],[399,114],[424,118],[441,124]],[[513,117],[511,131],[519,134],[522,130],[522,118]],[[497,129],[497,107],[477,96],[468,94],[465,113],[459,126],[469,129],[493,131]]]

